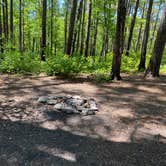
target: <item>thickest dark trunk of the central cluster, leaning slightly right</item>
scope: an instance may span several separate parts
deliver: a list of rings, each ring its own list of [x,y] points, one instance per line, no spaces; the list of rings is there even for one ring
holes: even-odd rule
[[[72,51],[76,10],[77,10],[77,0],[73,0],[72,1],[71,15],[70,15],[70,25],[69,25],[69,31],[68,31],[68,42],[67,42],[67,48],[66,48],[67,55],[71,55],[71,51]]]

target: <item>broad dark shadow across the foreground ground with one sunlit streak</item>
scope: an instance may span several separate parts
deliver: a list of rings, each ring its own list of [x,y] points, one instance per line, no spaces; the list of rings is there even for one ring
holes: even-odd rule
[[[118,143],[0,121],[0,165],[164,166],[166,145]],[[8,163],[8,164],[7,164]]]

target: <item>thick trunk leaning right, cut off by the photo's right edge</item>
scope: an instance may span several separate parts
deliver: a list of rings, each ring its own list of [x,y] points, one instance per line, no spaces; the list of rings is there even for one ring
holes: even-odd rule
[[[166,43],[166,5],[161,18],[160,26],[155,40],[153,54],[150,59],[145,76],[159,77],[160,64]]]

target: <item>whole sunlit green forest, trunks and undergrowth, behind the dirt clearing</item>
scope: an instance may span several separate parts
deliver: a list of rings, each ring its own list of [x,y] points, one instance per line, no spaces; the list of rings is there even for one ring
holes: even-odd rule
[[[1,0],[0,71],[166,71],[164,0]],[[163,57],[163,58],[162,58]]]

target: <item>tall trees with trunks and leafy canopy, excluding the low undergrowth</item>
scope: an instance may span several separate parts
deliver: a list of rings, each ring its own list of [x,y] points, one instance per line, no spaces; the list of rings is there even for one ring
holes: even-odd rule
[[[140,53],[139,71],[159,76],[166,42],[163,0],[0,0],[0,52],[106,57],[121,79],[121,58]],[[162,13],[161,13],[162,12]],[[146,55],[151,53],[146,69]],[[111,64],[110,64],[111,65]]]

